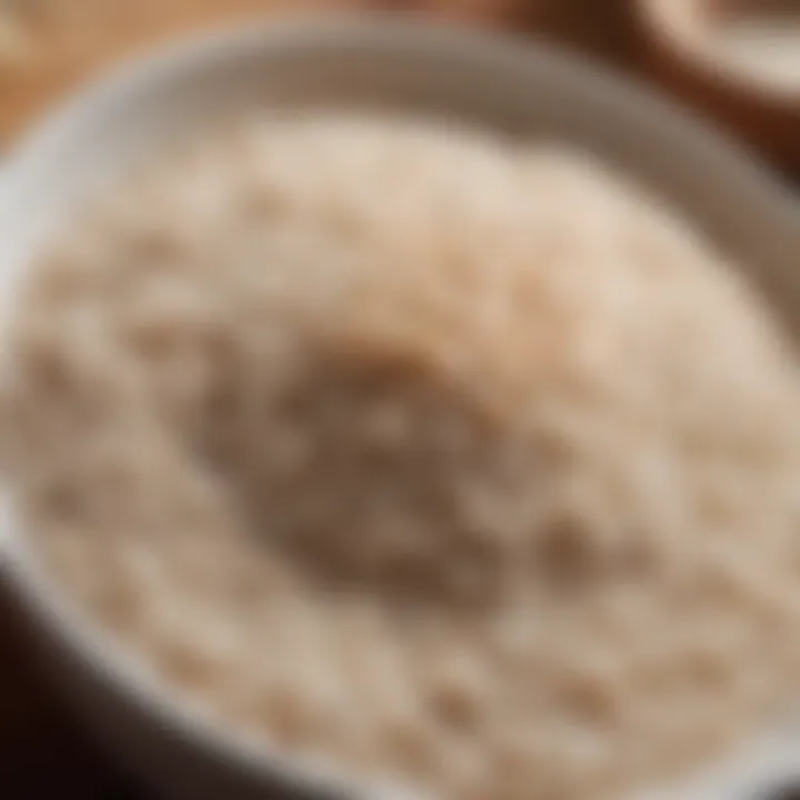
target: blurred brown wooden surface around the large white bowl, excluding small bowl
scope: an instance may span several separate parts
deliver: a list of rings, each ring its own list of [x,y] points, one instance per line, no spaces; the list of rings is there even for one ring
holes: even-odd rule
[[[0,0],[0,10],[12,0]],[[53,99],[102,66],[177,31],[242,20],[297,0],[16,0],[30,16],[0,23],[0,146],[12,141]],[[397,7],[397,0],[379,4]],[[500,0],[502,2],[502,0]],[[489,4],[487,4],[489,3]],[[341,4],[341,3],[340,3]],[[361,4],[349,2],[346,4]],[[631,66],[622,0],[412,0],[419,12],[526,27]],[[33,8],[32,11],[30,7]],[[111,11],[113,9],[113,12]],[[144,798],[64,713],[37,677],[23,624],[0,594],[0,798]],[[223,800],[223,799],[221,799]]]

